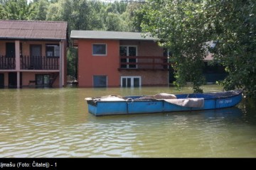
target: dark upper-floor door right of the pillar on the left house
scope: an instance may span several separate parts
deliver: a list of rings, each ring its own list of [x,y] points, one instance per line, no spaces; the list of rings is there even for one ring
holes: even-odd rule
[[[31,65],[30,69],[41,69],[42,68],[42,45],[31,45],[30,55],[31,55]]]

